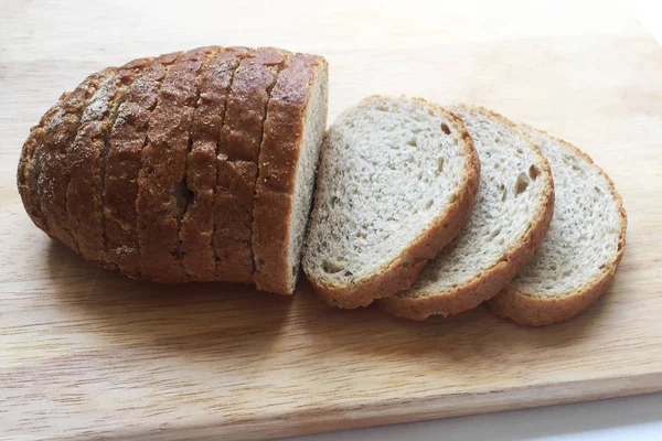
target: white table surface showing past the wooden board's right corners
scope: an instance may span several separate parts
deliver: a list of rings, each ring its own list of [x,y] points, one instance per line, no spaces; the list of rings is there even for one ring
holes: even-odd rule
[[[655,40],[662,44],[662,1],[633,0],[627,3]],[[596,7],[599,7],[599,2]],[[399,441],[405,439],[410,441],[662,440],[662,394],[344,430],[288,440]]]

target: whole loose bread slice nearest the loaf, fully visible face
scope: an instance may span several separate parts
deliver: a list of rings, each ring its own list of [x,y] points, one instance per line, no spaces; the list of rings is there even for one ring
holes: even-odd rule
[[[303,269],[329,304],[409,288],[460,232],[479,161],[459,118],[423,99],[373,96],[329,129]]]

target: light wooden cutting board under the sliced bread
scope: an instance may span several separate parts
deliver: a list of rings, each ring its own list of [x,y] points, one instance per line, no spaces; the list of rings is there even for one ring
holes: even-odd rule
[[[610,2],[354,3],[3,6],[0,438],[258,439],[662,390],[660,46]],[[414,323],[327,308],[305,281],[285,298],[127,280],[50,241],[15,190],[29,128],[93,71],[206,44],[325,55],[331,119],[403,93],[584,148],[628,211],[612,289],[544,329],[483,308]]]

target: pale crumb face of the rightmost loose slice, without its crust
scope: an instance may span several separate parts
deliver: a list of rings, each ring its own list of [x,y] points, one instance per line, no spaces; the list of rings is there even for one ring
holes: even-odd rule
[[[607,176],[586,157],[528,126],[520,128],[549,161],[556,202],[547,236],[511,286],[534,297],[574,293],[617,258],[620,206]]]

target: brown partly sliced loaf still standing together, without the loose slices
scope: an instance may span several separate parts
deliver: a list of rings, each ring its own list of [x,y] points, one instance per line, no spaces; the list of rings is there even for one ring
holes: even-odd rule
[[[88,76],[31,129],[18,186],[86,260],[291,293],[327,123],[327,62],[200,47]]]

